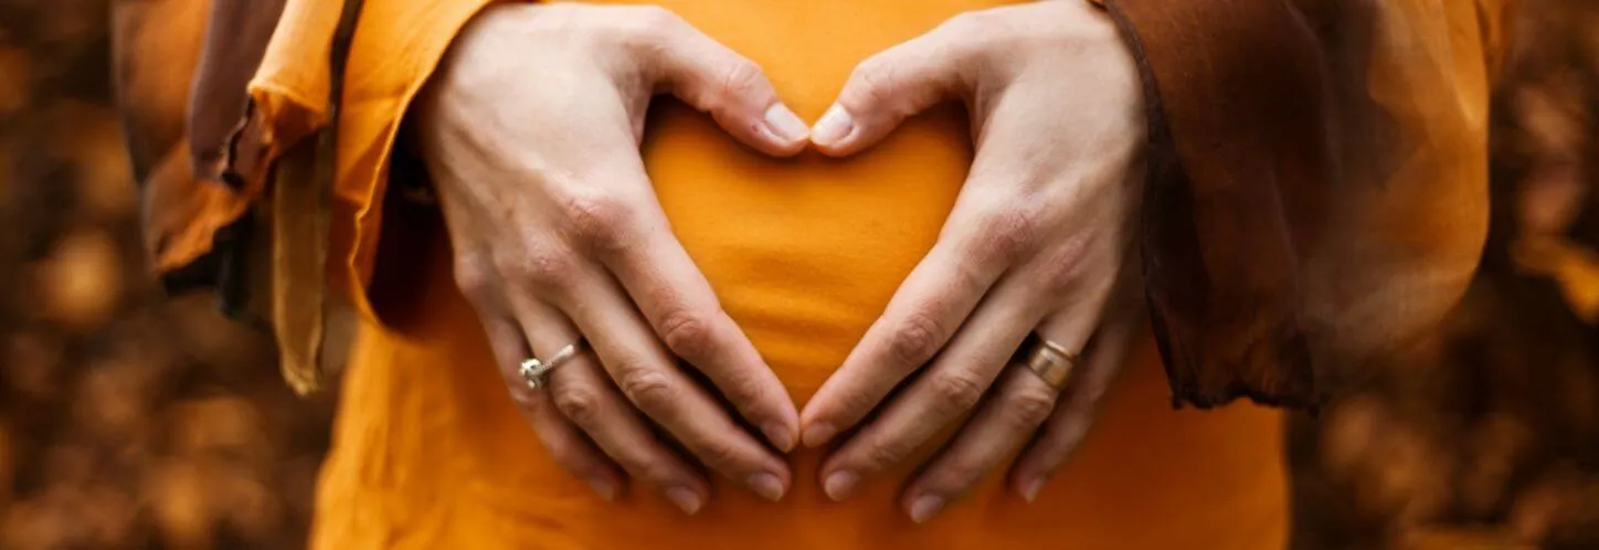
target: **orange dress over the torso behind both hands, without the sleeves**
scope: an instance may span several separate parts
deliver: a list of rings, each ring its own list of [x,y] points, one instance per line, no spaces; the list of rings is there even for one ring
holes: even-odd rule
[[[859,61],[1001,2],[659,3],[760,62],[784,99],[814,120]],[[937,237],[971,161],[964,112],[919,117],[857,158],[769,160],[704,115],[657,107],[644,157],[673,230],[803,405]],[[1278,416],[1249,406],[1170,411],[1148,347],[1084,449],[1033,505],[995,476],[915,526],[894,499],[910,465],[831,504],[811,451],[792,457],[793,489],[779,504],[732,484],[718,486],[694,518],[643,488],[601,502],[547,460],[453,293],[441,232],[427,241],[432,277],[408,296],[427,315],[365,326],[353,350],[318,494],[317,547],[1282,547]]]

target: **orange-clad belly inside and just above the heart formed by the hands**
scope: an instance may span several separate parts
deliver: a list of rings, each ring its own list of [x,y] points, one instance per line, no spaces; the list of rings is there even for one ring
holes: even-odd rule
[[[660,5],[761,64],[784,101],[815,120],[871,53],[999,3]],[[796,398],[844,360],[932,246],[972,158],[955,106],[847,160],[761,157],[672,101],[654,106],[646,128],[644,161],[675,233]]]

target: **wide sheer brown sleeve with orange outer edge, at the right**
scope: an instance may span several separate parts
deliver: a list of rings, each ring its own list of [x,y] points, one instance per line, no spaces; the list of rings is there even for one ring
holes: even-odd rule
[[[1314,408],[1414,345],[1487,232],[1506,2],[1103,0],[1140,62],[1174,405]]]

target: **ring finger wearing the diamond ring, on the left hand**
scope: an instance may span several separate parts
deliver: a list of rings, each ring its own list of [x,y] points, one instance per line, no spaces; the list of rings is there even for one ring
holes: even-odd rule
[[[580,339],[572,323],[548,305],[529,307],[520,318],[537,357],[553,357]],[[606,456],[635,480],[659,489],[684,513],[700,510],[710,496],[705,480],[662,444],[609,384],[590,350],[579,347],[577,355],[550,371],[548,379],[545,401],[588,433]]]

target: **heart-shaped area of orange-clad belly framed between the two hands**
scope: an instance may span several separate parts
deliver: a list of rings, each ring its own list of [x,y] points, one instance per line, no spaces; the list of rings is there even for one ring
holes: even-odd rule
[[[961,125],[940,114],[857,160],[774,161],[667,110],[646,161],[673,232],[779,376],[814,389],[932,246],[971,157]]]

